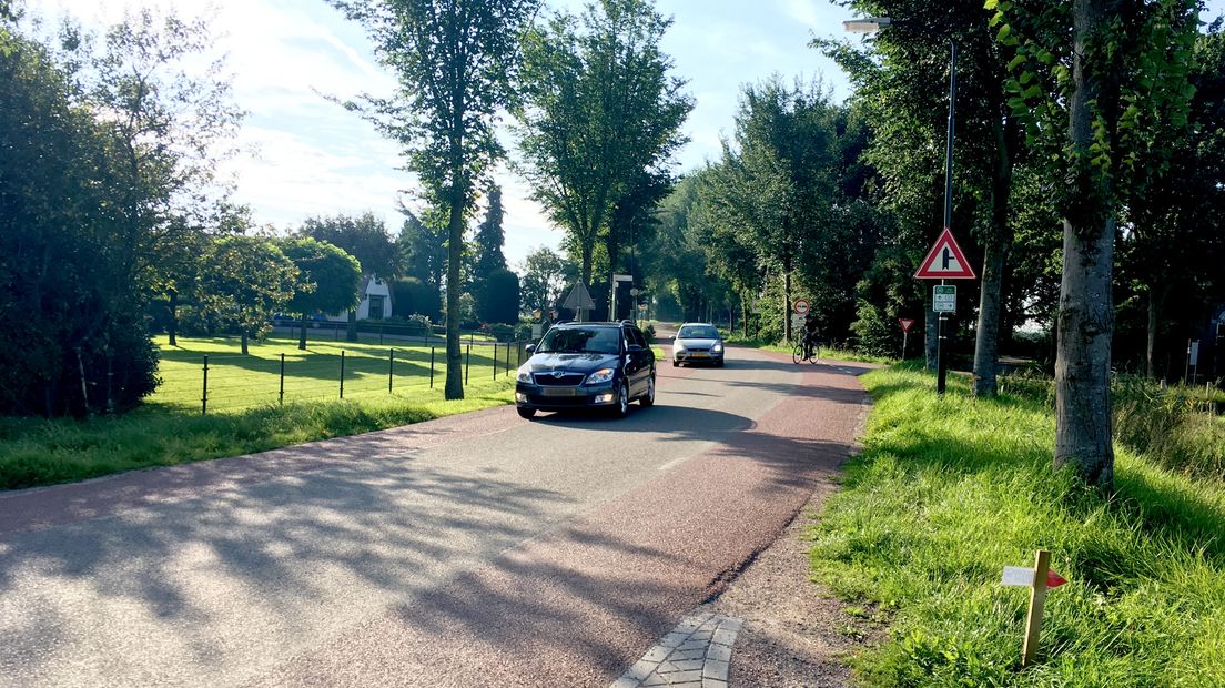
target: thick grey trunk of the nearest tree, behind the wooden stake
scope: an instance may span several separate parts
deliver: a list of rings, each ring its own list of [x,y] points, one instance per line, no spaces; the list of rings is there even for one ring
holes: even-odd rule
[[[1105,109],[1102,75],[1112,65],[1085,65],[1085,44],[1110,17],[1112,2],[1076,0],[1076,58],[1068,133],[1074,160],[1074,193],[1063,219],[1063,279],[1060,284],[1058,350],[1055,361],[1055,468],[1072,465],[1090,486],[1114,487],[1115,452],[1110,415],[1110,339],[1115,308],[1111,267],[1115,218],[1109,179],[1090,166],[1094,141],[1090,108]],[[1105,97],[1105,98],[1104,98]]]

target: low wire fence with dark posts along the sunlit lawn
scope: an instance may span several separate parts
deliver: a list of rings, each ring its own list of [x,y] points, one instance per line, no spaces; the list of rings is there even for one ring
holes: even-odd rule
[[[523,342],[463,343],[464,383],[505,378],[526,360]],[[229,354],[164,350],[154,402],[207,414],[361,394],[410,397],[446,384],[446,348],[314,345],[309,351]]]

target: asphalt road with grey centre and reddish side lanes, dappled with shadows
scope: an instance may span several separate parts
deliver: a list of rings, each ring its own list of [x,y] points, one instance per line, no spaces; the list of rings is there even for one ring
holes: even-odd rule
[[[848,453],[854,370],[733,350],[511,408],[0,496],[2,686],[608,686]]]

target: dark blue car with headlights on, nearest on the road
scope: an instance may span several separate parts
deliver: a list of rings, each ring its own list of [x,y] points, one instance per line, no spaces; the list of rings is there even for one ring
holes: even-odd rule
[[[655,403],[655,353],[631,322],[572,322],[549,329],[519,367],[514,405],[538,410],[608,409],[619,417],[630,403]]]

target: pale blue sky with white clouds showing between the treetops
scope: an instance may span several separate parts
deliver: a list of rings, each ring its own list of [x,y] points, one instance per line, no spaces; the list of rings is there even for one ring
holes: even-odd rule
[[[43,11],[67,13],[88,27],[120,20],[130,7],[173,10],[184,17],[206,12],[196,0],[40,0]],[[578,11],[582,0],[552,0]],[[1225,0],[1213,0],[1209,16]],[[249,111],[239,144],[225,169],[236,198],[251,206],[258,223],[298,226],[317,214],[382,217],[392,233],[402,215],[397,198],[417,204],[414,181],[398,168],[399,151],[352,113],[326,100],[363,92],[388,94],[393,80],[374,58],[360,26],[322,0],[214,0],[207,5],[218,54],[234,75],[234,95]],[[685,125],[690,143],[677,169],[715,158],[728,133],[740,86],[772,73],[820,77],[835,99],[848,93],[837,65],[807,48],[812,36],[842,36],[845,9],[829,0],[658,0],[675,21],[664,50],[675,73],[688,81],[696,107]],[[502,169],[497,180],[506,206],[506,256],[518,264],[535,246],[556,247],[561,230],[532,202],[526,184]]]

